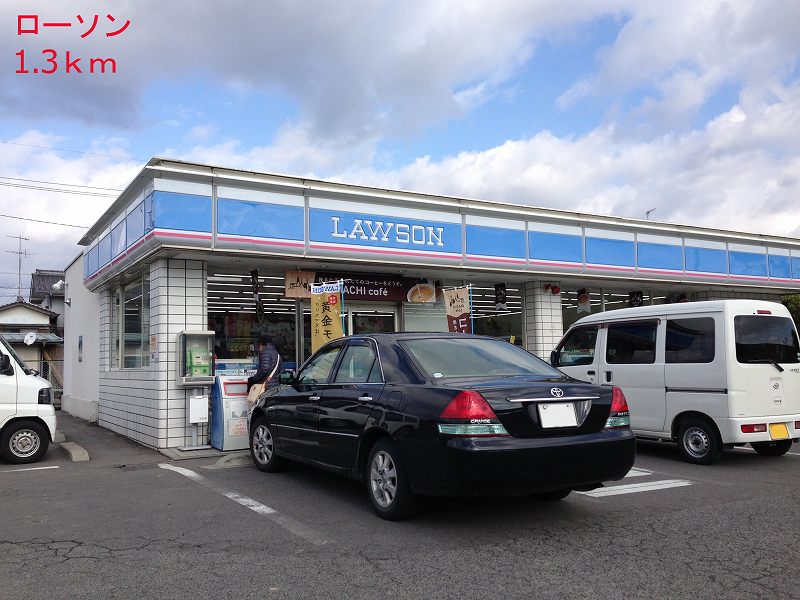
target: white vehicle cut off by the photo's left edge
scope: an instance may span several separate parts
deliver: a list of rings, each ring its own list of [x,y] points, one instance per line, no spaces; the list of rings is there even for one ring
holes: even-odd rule
[[[0,336],[0,455],[14,464],[36,462],[55,433],[53,386]]]

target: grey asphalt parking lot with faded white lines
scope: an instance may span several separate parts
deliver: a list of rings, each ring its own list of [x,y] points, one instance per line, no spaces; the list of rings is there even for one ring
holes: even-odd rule
[[[392,523],[311,468],[169,461],[72,427],[89,462],[0,462],[3,597],[797,597],[799,446],[701,467],[641,442],[596,492],[432,499]]]

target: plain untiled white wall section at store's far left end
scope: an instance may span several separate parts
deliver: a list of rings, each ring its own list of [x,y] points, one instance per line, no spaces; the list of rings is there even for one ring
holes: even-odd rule
[[[66,297],[71,306],[64,306],[64,395],[61,410],[87,421],[97,421],[100,396],[100,294],[83,285],[82,256],[66,270]],[[78,353],[78,338],[83,336],[83,354]],[[79,360],[79,358],[81,360]]]

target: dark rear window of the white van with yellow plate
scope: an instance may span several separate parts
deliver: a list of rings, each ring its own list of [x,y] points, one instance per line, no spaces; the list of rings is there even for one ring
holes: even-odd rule
[[[736,360],[740,363],[800,362],[800,344],[791,319],[766,315],[733,318]]]

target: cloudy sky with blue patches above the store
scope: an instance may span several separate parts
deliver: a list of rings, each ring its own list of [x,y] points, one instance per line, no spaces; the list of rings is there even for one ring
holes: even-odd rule
[[[0,303],[152,156],[800,237],[797,0],[3,0],[0,56]]]

